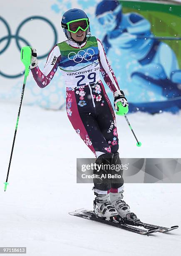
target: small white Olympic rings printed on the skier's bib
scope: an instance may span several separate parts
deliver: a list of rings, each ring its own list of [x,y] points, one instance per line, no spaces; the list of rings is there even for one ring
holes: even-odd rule
[[[91,54],[91,51],[92,51],[92,54]],[[83,55],[80,54],[81,52],[83,52],[82,53]],[[73,59],[71,58],[72,56],[70,56],[70,54],[74,54]],[[83,59],[87,60],[87,61],[91,60],[92,56],[94,56],[94,54],[95,54],[94,50],[91,48],[88,48],[86,52],[84,50],[80,50],[80,51],[78,51],[77,54],[74,51],[71,51],[68,54],[68,58],[69,58],[69,60],[73,60],[76,63],[80,63]]]

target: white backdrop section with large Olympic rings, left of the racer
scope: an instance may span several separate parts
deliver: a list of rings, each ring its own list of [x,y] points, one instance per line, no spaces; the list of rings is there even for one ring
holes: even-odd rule
[[[43,69],[52,47],[66,37],[60,25],[61,14],[52,10],[52,1],[7,0],[0,3],[0,9],[0,101],[19,105],[24,76],[21,47],[35,47],[38,65]],[[30,72],[23,104],[52,109],[64,105],[64,84],[58,73],[50,86],[42,90]]]

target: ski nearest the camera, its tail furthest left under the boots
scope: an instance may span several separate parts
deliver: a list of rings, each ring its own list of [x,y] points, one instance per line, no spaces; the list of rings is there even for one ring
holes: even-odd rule
[[[117,216],[112,217],[111,220],[106,220],[106,219],[95,216],[93,211],[89,211],[84,208],[76,210],[74,212],[69,212],[69,214],[73,215],[73,216],[80,217],[80,218],[88,219],[88,220],[94,220],[94,221],[104,223],[107,225],[111,225],[111,226],[114,226],[117,228],[122,228],[124,230],[138,233],[140,235],[149,235],[151,233],[156,233],[159,231],[157,228],[156,229],[152,228],[151,230],[144,230],[142,228],[137,228],[135,226],[131,226],[126,223],[121,223],[121,222],[119,222],[119,218],[117,218]]]

